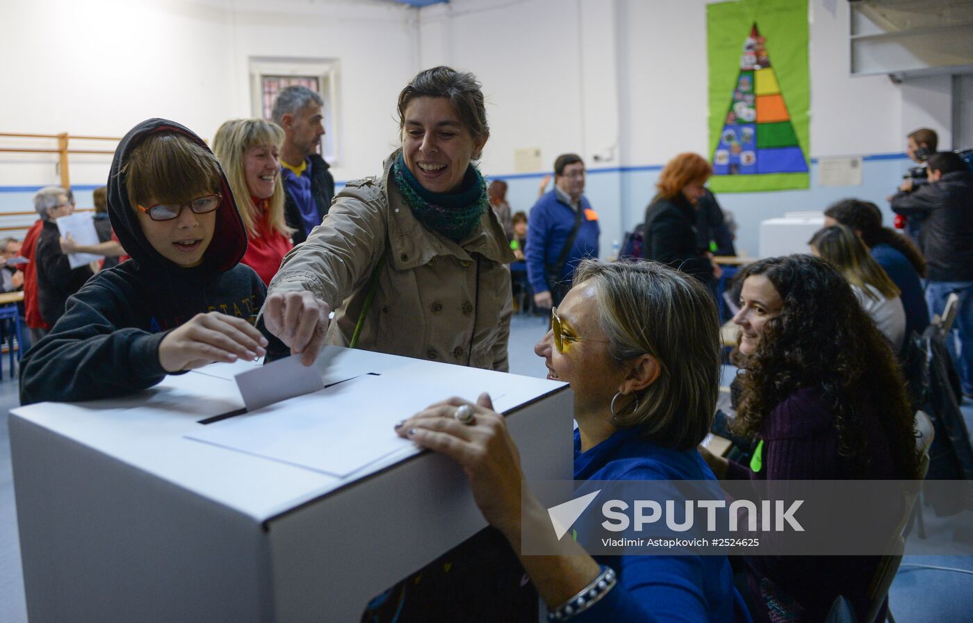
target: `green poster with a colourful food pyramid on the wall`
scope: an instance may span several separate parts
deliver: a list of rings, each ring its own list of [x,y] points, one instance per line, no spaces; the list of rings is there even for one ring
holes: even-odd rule
[[[717,192],[807,189],[807,0],[706,9],[709,133]]]

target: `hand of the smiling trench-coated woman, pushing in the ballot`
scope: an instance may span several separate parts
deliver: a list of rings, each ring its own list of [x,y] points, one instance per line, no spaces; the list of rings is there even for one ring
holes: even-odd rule
[[[264,302],[264,325],[310,365],[324,346],[330,312],[328,303],[309,292],[273,293]]]

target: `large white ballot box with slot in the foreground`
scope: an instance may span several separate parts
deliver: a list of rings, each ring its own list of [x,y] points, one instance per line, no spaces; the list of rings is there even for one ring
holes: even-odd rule
[[[486,526],[460,467],[395,422],[486,391],[532,479],[572,476],[563,383],[328,347],[325,388],[245,412],[234,375],[11,411],[31,623],[357,622]],[[444,596],[449,599],[449,596]]]

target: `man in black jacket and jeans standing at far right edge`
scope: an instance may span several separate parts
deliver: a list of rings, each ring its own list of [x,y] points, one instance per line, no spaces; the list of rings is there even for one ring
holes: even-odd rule
[[[950,293],[959,295],[954,327],[961,354],[947,339],[956,359],[963,395],[973,398],[973,172],[953,152],[929,156],[928,184],[902,190],[892,197],[892,210],[906,217],[924,217],[922,253],[927,261],[925,300],[929,315],[943,313]]]

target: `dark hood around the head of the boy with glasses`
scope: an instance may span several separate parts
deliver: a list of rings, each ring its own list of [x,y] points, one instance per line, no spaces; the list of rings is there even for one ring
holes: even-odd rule
[[[154,264],[161,268],[193,270],[178,266],[175,262],[166,260],[153,248],[139,224],[135,206],[128,199],[126,176],[123,169],[128,157],[147,136],[157,132],[177,132],[192,139],[212,154],[206,143],[189,128],[164,119],[150,119],[135,125],[126,134],[115,156],[108,175],[108,215],[112,228],[119,241],[139,264]],[[197,267],[205,272],[224,272],[233,268],[246,253],[246,229],[240,220],[234,201],[234,193],[230,190],[227,177],[220,169],[220,194],[223,201],[216,210],[216,224],[213,228],[213,239],[202,256],[202,263]]]

